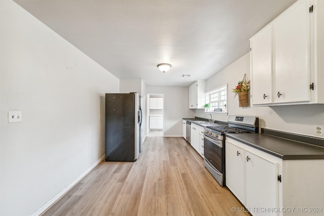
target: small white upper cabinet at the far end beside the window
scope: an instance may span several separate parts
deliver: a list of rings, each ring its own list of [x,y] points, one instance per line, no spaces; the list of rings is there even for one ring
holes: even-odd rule
[[[189,86],[189,109],[204,109],[205,80],[197,80]]]

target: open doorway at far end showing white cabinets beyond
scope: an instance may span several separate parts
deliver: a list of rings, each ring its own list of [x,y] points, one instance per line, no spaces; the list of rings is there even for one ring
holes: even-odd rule
[[[146,130],[148,136],[163,136],[164,134],[164,94],[146,94]]]

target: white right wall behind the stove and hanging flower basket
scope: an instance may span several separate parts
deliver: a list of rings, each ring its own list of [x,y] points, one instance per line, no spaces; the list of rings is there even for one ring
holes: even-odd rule
[[[228,65],[206,80],[206,91],[228,83],[228,114],[259,116],[261,127],[279,131],[316,136],[314,125],[324,125],[324,105],[289,105],[271,107],[238,107],[238,97],[234,98],[234,89],[244,74],[250,79],[250,53]],[[267,80],[265,80],[267,81]],[[203,110],[196,110],[195,115],[204,116]],[[213,115],[215,119],[227,120],[226,115]]]

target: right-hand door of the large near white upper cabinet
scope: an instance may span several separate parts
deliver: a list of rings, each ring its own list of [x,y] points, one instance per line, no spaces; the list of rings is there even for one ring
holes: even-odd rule
[[[309,1],[274,22],[274,103],[310,101]]]

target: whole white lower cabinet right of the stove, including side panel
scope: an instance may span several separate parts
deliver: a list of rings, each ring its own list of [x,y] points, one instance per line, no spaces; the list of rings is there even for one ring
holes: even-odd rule
[[[324,160],[282,160],[226,137],[226,186],[252,215],[324,215]]]

